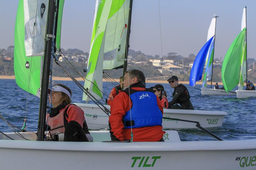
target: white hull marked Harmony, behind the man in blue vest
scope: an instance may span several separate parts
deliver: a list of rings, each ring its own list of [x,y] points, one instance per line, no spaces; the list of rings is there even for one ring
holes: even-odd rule
[[[83,109],[89,129],[97,130],[108,127],[108,115],[106,115],[97,105],[83,103],[74,104]],[[110,106],[105,106],[110,109]],[[227,115],[227,112],[223,111],[164,109],[163,117],[197,121],[206,129],[216,129],[222,126],[225,115]],[[169,119],[163,119],[162,125],[163,129],[198,129],[195,123]]]

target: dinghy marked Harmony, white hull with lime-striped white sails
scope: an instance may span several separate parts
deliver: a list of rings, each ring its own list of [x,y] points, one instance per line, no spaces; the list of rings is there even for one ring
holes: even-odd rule
[[[120,8],[116,8],[113,4],[105,5],[103,10],[98,8],[97,4],[98,1],[96,1],[84,88],[88,89],[97,100],[101,100],[104,95],[108,98],[108,95],[104,94],[102,90],[102,76],[107,81],[111,81],[108,75],[103,73],[103,70],[123,68],[125,72],[127,68],[127,51],[129,47],[127,44],[129,44],[130,36],[132,1],[124,1]],[[95,25],[98,20],[102,20],[102,22]],[[98,27],[101,29],[97,29]],[[95,32],[95,29],[97,29],[97,32]],[[101,34],[103,37],[100,37]],[[111,54],[111,56],[108,54]],[[83,100],[88,102],[92,98],[84,93]],[[108,127],[108,115],[98,105],[83,103],[76,103],[76,105],[84,110],[89,129],[96,130]],[[110,107],[105,106],[105,108],[109,109]],[[207,129],[220,127],[225,115],[227,115],[226,112],[219,111],[164,109],[164,117],[199,121]],[[164,129],[196,128],[193,123],[173,120],[163,120],[163,127]]]

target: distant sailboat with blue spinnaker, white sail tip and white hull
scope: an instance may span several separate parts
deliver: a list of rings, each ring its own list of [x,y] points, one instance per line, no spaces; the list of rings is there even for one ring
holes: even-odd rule
[[[234,95],[236,92],[226,92],[225,90],[212,89],[212,70],[214,58],[215,32],[217,15],[214,15],[208,29],[207,42],[196,55],[194,64],[191,69],[189,77],[189,85],[195,87],[196,82],[202,79],[203,71],[203,85],[201,88],[202,95]],[[204,70],[205,66],[205,70]],[[211,81],[211,88],[207,88],[207,82]]]

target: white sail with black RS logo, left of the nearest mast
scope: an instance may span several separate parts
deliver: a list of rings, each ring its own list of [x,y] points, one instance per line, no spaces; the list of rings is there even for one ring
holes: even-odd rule
[[[24,0],[26,56],[41,56],[44,54],[48,5],[49,0]]]

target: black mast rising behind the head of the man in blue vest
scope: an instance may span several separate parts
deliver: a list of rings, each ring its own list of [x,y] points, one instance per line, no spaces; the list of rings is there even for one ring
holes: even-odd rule
[[[127,59],[128,59],[128,50],[130,47],[129,40],[130,40],[130,33],[131,33],[131,21],[132,21],[132,1],[130,0],[130,11],[129,11],[129,20],[128,20],[128,29],[127,29],[127,35],[126,35],[126,46],[125,46],[125,54],[124,54],[124,70],[123,70],[123,78],[124,74],[127,70]]]

